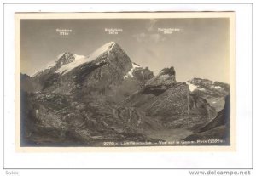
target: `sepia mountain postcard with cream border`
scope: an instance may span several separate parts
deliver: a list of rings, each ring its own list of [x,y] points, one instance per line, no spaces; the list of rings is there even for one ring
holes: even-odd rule
[[[235,149],[234,13],[15,15],[17,149]]]

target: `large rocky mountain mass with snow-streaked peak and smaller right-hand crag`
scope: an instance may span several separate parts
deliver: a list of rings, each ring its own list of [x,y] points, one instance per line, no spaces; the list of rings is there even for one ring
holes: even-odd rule
[[[34,77],[21,75],[22,145],[147,141],[148,131],[205,125],[216,116],[176,81],[173,67],[154,76],[118,43],[103,48],[88,57],[66,52]]]

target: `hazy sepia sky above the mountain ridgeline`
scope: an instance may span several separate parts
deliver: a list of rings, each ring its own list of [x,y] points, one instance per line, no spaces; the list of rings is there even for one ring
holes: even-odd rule
[[[119,28],[108,34],[105,28]],[[159,28],[176,28],[164,34]],[[72,32],[61,36],[56,29]],[[156,75],[174,66],[178,82],[193,77],[229,82],[228,19],[133,19],[133,20],[21,20],[20,71],[32,75],[70,51],[88,55],[114,41],[143,67]]]

